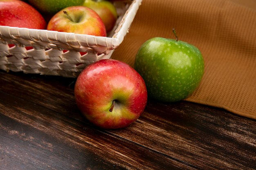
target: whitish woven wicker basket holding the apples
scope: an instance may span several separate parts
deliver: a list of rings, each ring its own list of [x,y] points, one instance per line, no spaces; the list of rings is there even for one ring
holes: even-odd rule
[[[119,18],[107,37],[0,26],[0,69],[77,77],[88,64],[110,58],[128,33],[141,1],[114,2]],[[33,49],[27,50],[29,46]]]

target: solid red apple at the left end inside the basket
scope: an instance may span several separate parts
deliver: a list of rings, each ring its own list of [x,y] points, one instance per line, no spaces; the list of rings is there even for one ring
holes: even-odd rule
[[[29,29],[45,29],[43,16],[21,0],[0,0],[0,25]]]

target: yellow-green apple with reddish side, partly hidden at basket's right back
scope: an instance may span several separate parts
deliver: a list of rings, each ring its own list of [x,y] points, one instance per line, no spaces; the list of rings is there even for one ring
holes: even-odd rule
[[[117,21],[117,10],[111,2],[107,0],[85,0],[83,6],[89,7],[99,14],[107,32],[113,29]]]

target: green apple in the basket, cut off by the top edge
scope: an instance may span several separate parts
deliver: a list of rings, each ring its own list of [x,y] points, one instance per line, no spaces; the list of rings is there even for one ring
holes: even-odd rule
[[[63,8],[82,5],[84,0],[28,0],[29,3],[46,14],[55,14]]]

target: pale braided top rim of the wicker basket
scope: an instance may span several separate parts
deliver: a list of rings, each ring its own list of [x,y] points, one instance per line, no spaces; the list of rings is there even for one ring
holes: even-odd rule
[[[112,37],[11,26],[0,26],[0,35],[5,38],[9,38],[10,41],[22,38],[32,42],[43,41],[51,44],[57,43],[56,45],[60,43],[68,44],[71,48],[75,46],[87,46],[93,49],[96,46],[102,46],[106,47],[107,50],[113,50],[116,49],[124,40],[141,2],[142,0],[132,0],[132,3],[126,10],[126,13],[119,22]]]

